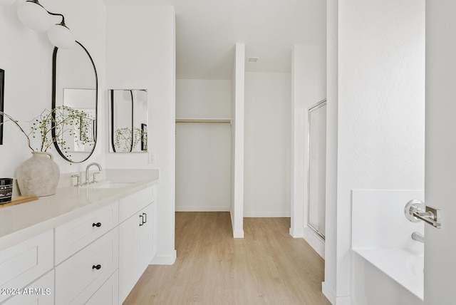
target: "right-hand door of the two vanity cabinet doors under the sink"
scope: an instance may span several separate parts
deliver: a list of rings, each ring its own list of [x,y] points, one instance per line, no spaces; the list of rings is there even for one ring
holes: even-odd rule
[[[139,277],[152,261],[153,255],[153,205],[148,205],[141,212],[142,225],[139,227],[138,237],[138,272]]]

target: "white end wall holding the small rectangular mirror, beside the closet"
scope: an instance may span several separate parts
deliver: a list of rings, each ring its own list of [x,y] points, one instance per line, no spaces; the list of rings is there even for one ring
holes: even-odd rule
[[[175,13],[172,6],[108,5],[107,89],[147,89],[147,153],[108,153],[111,168],[157,168],[157,256],[155,264],[175,261]],[[107,103],[107,101],[105,101]],[[107,135],[107,131],[105,135]]]

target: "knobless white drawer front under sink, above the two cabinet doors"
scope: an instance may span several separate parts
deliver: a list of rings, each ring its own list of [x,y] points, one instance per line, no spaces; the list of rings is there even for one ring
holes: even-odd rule
[[[147,187],[133,195],[119,200],[119,222],[123,222],[128,217],[142,210],[144,207],[154,202],[155,187]]]

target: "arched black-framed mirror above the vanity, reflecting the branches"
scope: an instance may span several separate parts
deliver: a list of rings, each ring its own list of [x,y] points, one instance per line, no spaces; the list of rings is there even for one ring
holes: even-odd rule
[[[59,155],[73,163],[87,160],[97,142],[98,74],[78,41],[73,48],[54,48],[52,109],[56,120],[71,117],[65,130],[52,130]]]

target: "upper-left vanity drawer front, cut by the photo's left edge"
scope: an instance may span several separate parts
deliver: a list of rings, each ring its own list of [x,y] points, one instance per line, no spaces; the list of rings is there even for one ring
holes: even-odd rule
[[[47,231],[0,252],[0,302],[6,289],[22,289],[53,267],[53,231]]]

